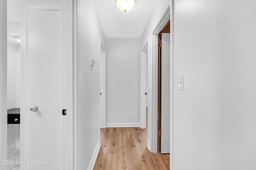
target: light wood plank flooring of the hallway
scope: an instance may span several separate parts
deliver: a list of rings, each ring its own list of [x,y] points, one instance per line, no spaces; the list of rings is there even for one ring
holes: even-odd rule
[[[170,154],[151,153],[147,129],[100,129],[100,151],[94,170],[169,170]]]

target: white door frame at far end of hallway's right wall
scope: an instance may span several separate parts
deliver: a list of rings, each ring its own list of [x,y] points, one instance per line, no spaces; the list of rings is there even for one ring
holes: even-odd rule
[[[140,128],[145,129],[147,128],[146,122],[147,122],[147,115],[146,115],[146,100],[147,100],[147,58],[148,58],[148,42],[149,42],[149,36],[142,45],[142,48],[140,50]]]

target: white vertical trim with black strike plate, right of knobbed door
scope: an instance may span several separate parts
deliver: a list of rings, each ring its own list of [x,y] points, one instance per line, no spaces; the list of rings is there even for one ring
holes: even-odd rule
[[[67,115],[64,116],[64,170],[76,168],[76,29],[75,17],[76,7],[73,1],[63,0],[63,55],[66,64],[66,98],[64,100],[64,108],[67,109]],[[65,107],[66,103],[66,107]],[[66,134],[65,134],[66,132]],[[65,150],[65,149],[64,149]]]

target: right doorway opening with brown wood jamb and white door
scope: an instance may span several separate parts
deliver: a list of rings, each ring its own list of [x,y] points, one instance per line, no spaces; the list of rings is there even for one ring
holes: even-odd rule
[[[158,34],[157,152],[170,153],[170,20]]]

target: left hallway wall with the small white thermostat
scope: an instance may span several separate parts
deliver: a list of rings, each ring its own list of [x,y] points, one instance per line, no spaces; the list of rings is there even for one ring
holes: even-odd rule
[[[81,1],[80,94],[81,95],[81,168],[86,170],[100,140],[100,38],[105,35],[91,0]],[[91,58],[95,66],[91,68]],[[78,113],[80,114],[80,113]],[[79,121],[79,120],[78,120]],[[79,129],[78,129],[79,130]]]

